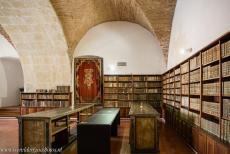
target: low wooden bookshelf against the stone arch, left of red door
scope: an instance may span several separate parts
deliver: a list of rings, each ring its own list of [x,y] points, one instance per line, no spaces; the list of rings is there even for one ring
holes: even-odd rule
[[[21,92],[21,115],[71,105],[71,92]]]

